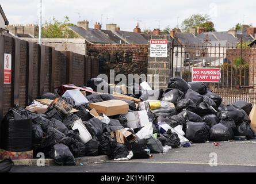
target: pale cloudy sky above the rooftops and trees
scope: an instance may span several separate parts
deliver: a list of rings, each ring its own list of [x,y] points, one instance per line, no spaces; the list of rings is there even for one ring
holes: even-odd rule
[[[39,0],[0,0],[10,24],[37,24]],[[132,31],[136,22],[142,30],[166,26],[180,27],[182,21],[192,14],[208,14],[217,31],[225,31],[237,23],[253,24],[255,0],[43,0],[43,22],[64,16],[76,24],[88,20],[89,28],[95,22],[114,23],[121,30]]]

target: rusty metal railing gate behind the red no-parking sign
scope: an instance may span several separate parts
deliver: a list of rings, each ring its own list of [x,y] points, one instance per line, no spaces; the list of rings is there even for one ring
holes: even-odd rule
[[[256,103],[256,94],[250,85],[254,84],[254,77],[250,78],[250,74],[254,76],[256,71],[249,65],[255,53],[243,43],[242,38],[236,45],[227,42],[213,44],[206,34],[201,44],[184,45],[175,36],[170,49],[171,76],[181,76],[189,82],[192,81],[193,67],[221,68],[221,81],[206,85],[221,95],[225,104],[238,100]]]

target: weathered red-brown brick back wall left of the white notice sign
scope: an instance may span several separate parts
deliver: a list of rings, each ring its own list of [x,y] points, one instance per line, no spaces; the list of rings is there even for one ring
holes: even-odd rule
[[[97,57],[100,74],[147,75],[147,51],[145,44],[87,44],[87,55]]]

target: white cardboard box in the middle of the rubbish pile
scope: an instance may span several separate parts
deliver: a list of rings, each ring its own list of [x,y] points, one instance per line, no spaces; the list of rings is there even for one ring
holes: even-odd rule
[[[140,128],[150,124],[146,110],[130,112],[126,115],[129,128]]]

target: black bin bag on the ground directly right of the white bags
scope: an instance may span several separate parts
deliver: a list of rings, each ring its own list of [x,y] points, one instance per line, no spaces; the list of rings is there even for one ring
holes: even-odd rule
[[[186,138],[193,143],[205,143],[208,140],[210,127],[204,122],[187,122]]]

